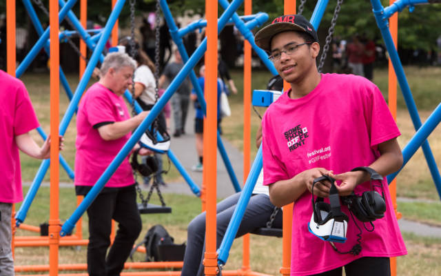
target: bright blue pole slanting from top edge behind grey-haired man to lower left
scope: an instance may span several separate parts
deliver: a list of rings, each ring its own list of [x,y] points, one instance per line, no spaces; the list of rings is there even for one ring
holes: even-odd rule
[[[68,13],[68,11],[66,10],[67,8],[72,8],[72,7],[70,7],[70,2],[72,2],[72,1],[76,1],[76,0],[69,0],[68,3],[66,3],[65,6],[63,6],[63,8],[61,9],[61,12],[60,12],[60,17],[62,17],[63,14],[65,15]],[[116,1],[116,4],[112,10],[112,13],[110,14],[110,17],[105,25],[104,32],[101,35],[99,42],[96,44],[96,48],[94,49],[94,51],[92,53],[92,57],[90,57],[88,66],[85,69],[85,72],[83,74],[83,77],[81,78],[81,81],[79,82],[78,86],[76,87],[74,97],[72,98],[72,101],[70,101],[68,109],[66,110],[65,115],[63,116],[63,119],[61,120],[61,124],[60,124],[60,128],[59,128],[60,129],[59,135],[65,134],[65,131],[68,128],[69,122],[72,119],[74,112],[76,111],[76,108],[77,108],[78,103],[81,99],[81,96],[83,95],[83,91],[85,90],[85,87],[88,85],[90,77],[92,76],[92,72],[96,66],[96,63],[98,62],[98,60],[100,58],[103,57],[103,55],[101,53],[103,52],[105,43],[107,42],[107,39],[109,39],[109,37],[110,37],[110,34],[112,32],[112,28],[116,22],[116,19],[118,19],[119,14],[121,13],[121,10],[124,6],[124,3],[125,3],[125,0]],[[49,28],[46,30],[46,32],[48,32],[48,30],[49,30]],[[48,32],[48,34],[49,34],[49,32]],[[41,38],[40,38],[40,40],[41,40]],[[35,48],[35,46],[34,46],[34,48]],[[39,171],[37,172],[37,175],[35,176],[35,179],[32,182],[32,186],[34,186],[34,188],[32,189],[32,193],[29,194],[29,199],[26,202],[23,201],[23,204],[22,204],[23,210],[20,209],[21,212],[17,213],[17,215],[16,215],[17,226],[19,226],[24,221],[26,214],[29,210],[30,204],[32,203],[32,201],[37,193],[37,190],[38,190],[39,186],[41,185],[41,181],[43,180],[45,173],[48,171],[49,164],[50,164],[49,159],[45,159],[42,162],[42,164],[39,168]]]

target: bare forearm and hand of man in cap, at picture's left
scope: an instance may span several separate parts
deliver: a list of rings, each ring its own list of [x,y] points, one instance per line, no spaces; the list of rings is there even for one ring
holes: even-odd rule
[[[276,181],[269,185],[269,199],[274,206],[278,207],[290,204],[296,201],[306,190],[311,191],[314,179],[322,175],[331,175],[331,173],[331,170],[325,168],[311,168],[300,172],[291,179]],[[330,186],[331,184],[328,181],[320,182],[320,185],[316,184],[314,195],[318,197],[329,195]]]

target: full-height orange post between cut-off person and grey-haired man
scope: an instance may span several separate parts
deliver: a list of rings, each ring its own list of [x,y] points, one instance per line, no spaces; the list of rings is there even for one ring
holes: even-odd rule
[[[59,4],[49,2],[50,23],[50,214],[49,214],[49,275],[58,275],[59,233]]]

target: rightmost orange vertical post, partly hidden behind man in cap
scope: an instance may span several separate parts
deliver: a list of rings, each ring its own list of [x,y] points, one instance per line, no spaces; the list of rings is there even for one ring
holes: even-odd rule
[[[392,5],[394,0],[389,0],[389,5]],[[389,18],[389,30],[391,31],[391,36],[395,47],[398,45],[398,12],[393,14]],[[395,70],[393,70],[393,65],[391,59],[389,59],[389,110],[391,110],[393,119],[397,119],[397,77]],[[401,214],[397,211],[397,182],[393,179],[391,185],[389,185],[389,191],[391,193],[393,209],[395,210],[395,215],[397,219],[400,219]],[[397,275],[397,259],[396,257],[391,257],[391,275]]]

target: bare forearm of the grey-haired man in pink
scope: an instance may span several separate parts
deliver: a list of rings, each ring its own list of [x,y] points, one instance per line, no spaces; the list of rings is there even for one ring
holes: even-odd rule
[[[116,121],[112,124],[100,126],[98,128],[99,135],[105,141],[119,139],[139,126],[148,114],[148,111],[143,111],[139,115],[125,121]]]

